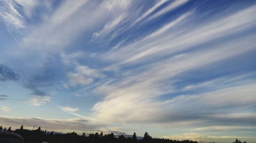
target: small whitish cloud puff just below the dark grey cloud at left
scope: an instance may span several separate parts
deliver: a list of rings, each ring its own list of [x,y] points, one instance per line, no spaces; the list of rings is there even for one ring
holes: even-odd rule
[[[35,95],[32,99],[27,102],[33,106],[40,106],[51,101],[51,96],[39,96]]]

